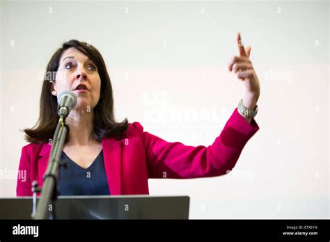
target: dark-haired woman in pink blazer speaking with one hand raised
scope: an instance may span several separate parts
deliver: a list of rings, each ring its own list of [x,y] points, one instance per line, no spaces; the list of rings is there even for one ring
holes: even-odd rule
[[[146,131],[139,122],[116,122],[113,92],[104,60],[92,45],[65,42],[47,65],[40,98],[40,116],[24,129],[29,145],[22,148],[17,196],[30,196],[31,182],[42,186],[52,138],[58,122],[57,95],[72,90],[77,106],[66,122],[69,131],[61,159],[60,195],[149,194],[148,178],[195,178],[225,175],[237,162],[244,145],[258,131],[253,117],[260,83],[238,33],[239,56],[228,69],[244,81],[246,95],[235,108],[219,137],[208,147],[168,143]]]

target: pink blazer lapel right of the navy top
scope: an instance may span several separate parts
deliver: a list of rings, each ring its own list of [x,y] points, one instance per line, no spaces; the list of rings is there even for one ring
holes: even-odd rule
[[[122,195],[123,193],[121,145],[122,142],[120,140],[102,138],[104,168],[111,195]]]

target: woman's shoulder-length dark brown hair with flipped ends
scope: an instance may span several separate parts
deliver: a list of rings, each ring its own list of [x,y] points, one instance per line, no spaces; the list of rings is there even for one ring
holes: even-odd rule
[[[78,40],[70,40],[63,43],[63,46],[58,49],[47,65],[46,74],[42,83],[40,97],[40,113],[38,122],[31,129],[24,129],[25,139],[30,143],[46,143],[53,138],[56,125],[58,123],[57,115],[57,97],[52,95],[49,81],[55,82],[56,72],[58,70],[61,56],[66,49],[74,47],[81,51],[95,63],[101,79],[100,99],[95,108],[93,108],[93,132],[91,135],[101,141],[106,136],[119,138],[127,130],[127,118],[123,122],[116,122],[113,113],[113,91],[107,67],[100,52],[86,42]],[[49,75],[51,73],[51,75]],[[53,75],[53,73],[55,73]],[[49,77],[50,76],[50,77]],[[65,138],[65,143],[70,139],[69,132]]]

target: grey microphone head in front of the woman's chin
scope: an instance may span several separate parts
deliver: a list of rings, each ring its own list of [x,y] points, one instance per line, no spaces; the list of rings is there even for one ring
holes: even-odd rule
[[[65,90],[60,93],[57,97],[57,114],[58,116],[63,115],[66,118],[72,108],[77,105],[77,96],[70,90]]]

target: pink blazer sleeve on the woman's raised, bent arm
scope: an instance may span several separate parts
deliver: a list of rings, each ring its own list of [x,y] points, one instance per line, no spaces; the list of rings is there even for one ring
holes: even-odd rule
[[[249,124],[237,108],[221,134],[207,147],[170,143],[143,131],[139,122],[133,126],[144,145],[149,178],[174,179],[225,175],[234,168],[244,145],[259,129],[256,120]]]

